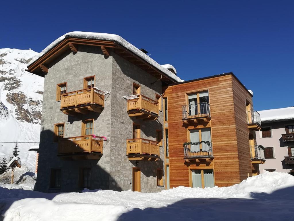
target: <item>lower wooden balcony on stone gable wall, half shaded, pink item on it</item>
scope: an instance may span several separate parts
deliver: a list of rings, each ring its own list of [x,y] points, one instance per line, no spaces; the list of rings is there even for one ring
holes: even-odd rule
[[[58,156],[64,159],[100,159],[103,153],[103,137],[91,135],[61,138]]]

